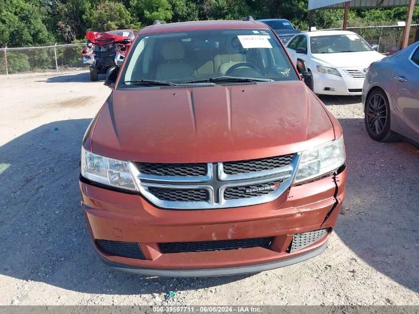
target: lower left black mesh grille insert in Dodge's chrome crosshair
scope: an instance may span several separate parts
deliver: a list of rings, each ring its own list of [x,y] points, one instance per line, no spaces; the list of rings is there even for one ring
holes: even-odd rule
[[[149,187],[148,190],[154,196],[163,200],[206,201],[209,197],[208,191],[206,189]]]

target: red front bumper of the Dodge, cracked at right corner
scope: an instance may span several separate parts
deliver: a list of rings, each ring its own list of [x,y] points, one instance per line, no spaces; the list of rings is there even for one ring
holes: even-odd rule
[[[140,195],[80,182],[81,205],[98,253],[115,269],[158,276],[220,276],[258,272],[313,257],[327,246],[345,196],[346,170],[289,188],[274,201],[236,208],[166,210]],[[290,252],[293,235],[328,233]],[[269,247],[162,253],[159,243],[273,237]],[[109,255],[96,240],[139,243],[145,259]]]

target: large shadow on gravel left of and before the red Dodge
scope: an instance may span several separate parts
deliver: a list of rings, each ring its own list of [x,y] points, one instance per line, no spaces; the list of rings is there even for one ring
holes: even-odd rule
[[[0,147],[1,274],[117,295],[215,287],[251,276],[143,277],[103,265],[87,232],[78,187],[80,143],[89,123],[57,121]]]

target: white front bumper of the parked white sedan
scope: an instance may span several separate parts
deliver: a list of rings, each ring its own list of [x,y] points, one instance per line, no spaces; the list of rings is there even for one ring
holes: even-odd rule
[[[342,76],[313,71],[314,93],[322,95],[352,95],[362,93],[363,78],[352,78],[342,70]],[[325,90],[326,88],[326,90]],[[327,90],[333,89],[333,90]]]

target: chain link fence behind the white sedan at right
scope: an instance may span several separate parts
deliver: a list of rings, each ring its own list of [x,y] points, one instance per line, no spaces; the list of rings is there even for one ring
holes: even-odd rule
[[[388,54],[391,47],[401,46],[404,26],[364,26],[348,27],[347,30],[357,33],[370,45],[378,45],[378,52]],[[330,28],[322,30],[342,30],[342,28]],[[411,26],[411,36],[419,37],[419,24]]]

